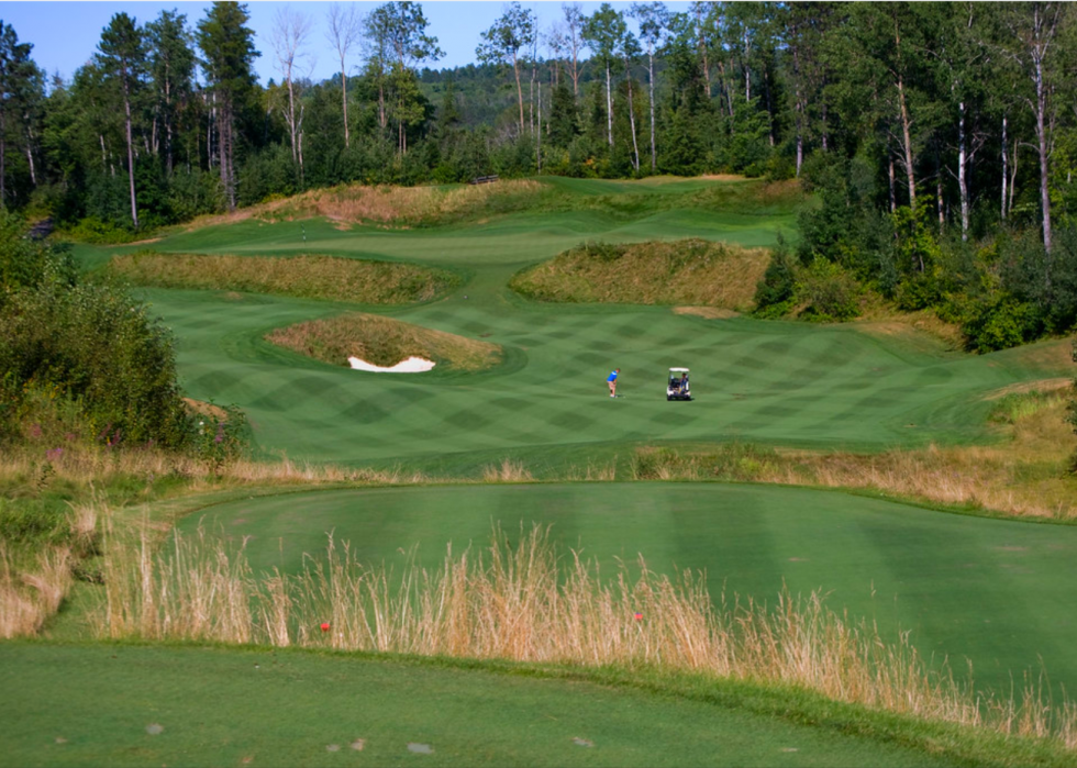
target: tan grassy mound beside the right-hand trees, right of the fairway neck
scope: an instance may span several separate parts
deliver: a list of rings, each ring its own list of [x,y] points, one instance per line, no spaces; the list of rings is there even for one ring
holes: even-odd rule
[[[589,243],[517,275],[509,287],[538,301],[746,308],[769,254],[699,238]]]

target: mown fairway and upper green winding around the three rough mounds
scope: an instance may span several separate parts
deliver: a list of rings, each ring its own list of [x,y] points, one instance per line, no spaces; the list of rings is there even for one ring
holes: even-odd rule
[[[580,196],[624,186],[557,183]],[[652,187],[663,194],[678,183],[745,182]],[[699,236],[770,245],[793,223],[789,211],[700,210],[634,218],[520,213],[407,231],[248,221],[153,246],[252,257],[320,253],[457,270],[468,282],[446,299],[388,312],[502,345],[504,365],[475,376],[364,374],[262,341],[274,327],[354,305],[206,291],[146,296],[179,338],[180,375],[191,397],[242,407],[263,448],[351,465],[445,465],[445,457],[457,456],[456,468],[474,474],[482,463],[536,446],[739,438],[880,449],[967,442],[987,437],[986,392],[1059,375],[1061,364],[1047,370],[1028,350],[970,357],[880,341],[854,327],[703,320],[669,308],[543,305],[506,288],[517,270],[585,240]],[[89,253],[87,263],[103,255]],[[692,369],[697,402],[665,401],[669,366]],[[611,402],[604,379],[614,367],[622,370],[625,397]]]

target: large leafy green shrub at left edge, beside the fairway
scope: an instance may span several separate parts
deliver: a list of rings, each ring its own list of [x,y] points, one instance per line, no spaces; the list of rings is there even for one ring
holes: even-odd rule
[[[191,425],[166,329],[119,288],[79,285],[66,254],[24,234],[0,213],[0,437],[19,437],[31,412],[79,421],[58,416],[59,402],[110,446],[185,446]]]

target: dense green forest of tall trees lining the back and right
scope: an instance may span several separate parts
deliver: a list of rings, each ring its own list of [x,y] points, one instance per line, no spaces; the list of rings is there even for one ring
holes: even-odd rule
[[[118,13],[69,81],[0,22],[0,200],[122,241],[349,182],[798,178],[813,204],[764,314],[845,319],[869,290],[981,350],[1077,321],[1073,5],[566,3],[548,29],[502,10],[453,69],[419,3],[282,8],[262,52],[243,4]],[[303,79],[315,49],[346,77]]]

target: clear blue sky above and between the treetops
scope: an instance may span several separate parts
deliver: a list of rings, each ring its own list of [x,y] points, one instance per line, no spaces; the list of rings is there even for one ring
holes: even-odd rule
[[[86,64],[97,49],[102,27],[107,26],[114,13],[121,11],[134,16],[140,24],[155,19],[162,10],[177,9],[187,14],[187,21],[193,27],[195,22],[206,14],[210,2],[0,2],[0,20],[11,24],[24,43],[33,43],[33,58],[49,76],[55,71],[69,79],[75,70]],[[378,2],[357,2],[360,13],[368,13]],[[479,42],[479,33],[490,26],[502,9],[500,0],[491,2],[463,0],[424,0],[423,13],[430,21],[428,32],[435,35],[445,57],[436,65],[438,67],[463,66],[475,62],[475,47]],[[540,25],[547,29],[552,22],[560,18],[562,3],[524,2],[525,7],[538,14]],[[598,2],[581,2],[584,13],[592,13],[598,9]],[[628,11],[631,3],[613,2],[614,8]],[[251,27],[255,31],[255,45],[262,56],[255,63],[255,69],[263,84],[269,78],[279,79],[280,75],[274,69],[273,48],[269,34],[273,29],[277,10],[290,5],[293,11],[300,11],[314,21],[311,34],[311,77],[321,80],[331,77],[337,65],[336,54],[325,41],[325,14],[330,2],[248,2]],[[674,11],[687,9],[687,2],[667,2]],[[348,66],[359,63],[358,52],[349,56]]]

